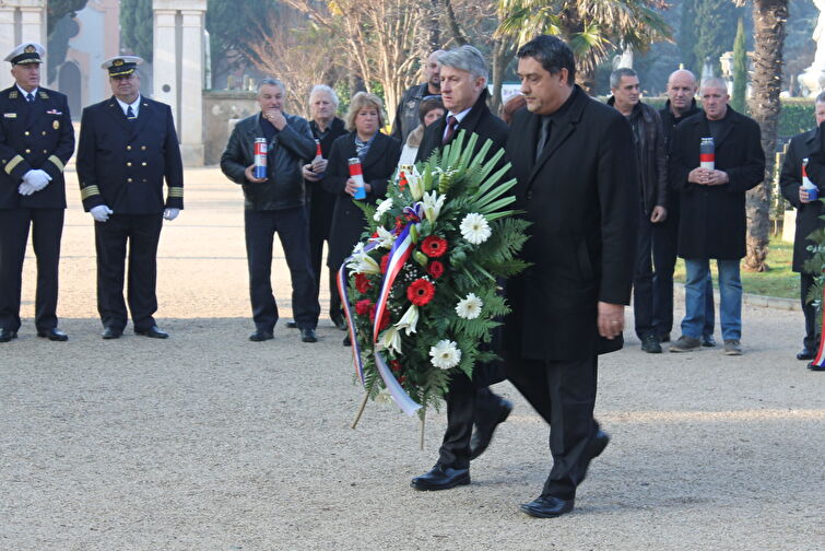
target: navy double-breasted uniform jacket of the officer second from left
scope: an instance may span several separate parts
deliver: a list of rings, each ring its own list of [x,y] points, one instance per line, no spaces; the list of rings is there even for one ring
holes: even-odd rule
[[[114,96],[83,109],[78,178],[86,211],[98,204],[116,214],[182,209],[184,165],[169,106],[141,96],[134,121],[127,120]]]

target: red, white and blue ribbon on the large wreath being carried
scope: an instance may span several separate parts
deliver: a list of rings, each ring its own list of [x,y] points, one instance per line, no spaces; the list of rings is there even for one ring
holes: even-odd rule
[[[417,223],[421,220],[420,212],[414,209],[410,209],[410,211],[411,212],[410,214],[408,214],[408,219],[410,219],[413,223]],[[404,209],[404,213],[406,214],[406,209]],[[381,290],[375,309],[375,324],[373,326],[374,350],[375,344],[378,341],[378,328],[380,327],[381,317],[387,310],[387,301],[389,298],[390,290],[392,289],[392,283],[396,281],[396,278],[401,272],[401,268],[413,250],[412,237],[410,235],[410,227],[413,225],[413,223],[406,224],[406,226],[404,226],[398,237],[396,237],[396,241],[392,243],[392,248],[389,253],[387,271],[384,274],[384,279],[381,281]],[[368,253],[377,246],[378,242],[368,243],[364,247],[363,251]],[[353,363],[355,364],[355,373],[358,375],[361,384],[366,386],[366,380],[364,378],[364,361],[361,355],[361,347],[358,345],[358,339],[355,331],[355,317],[353,316],[352,304],[350,303],[350,295],[346,284],[346,265],[347,262],[350,262],[350,260],[352,260],[352,258],[353,257],[351,256],[350,258],[344,260],[344,262],[341,265],[341,268],[339,268],[337,283],[338,293],[341,296],[341,304],[343,305],[344,309],[344,316],[346,317],[350,341],[352,342],[352,354]],[[392,370],[390,370],[390,367],[387,365],[387,362],[380,354],[380,352],[375,350],[374,357],[378,374],[381,376],[381,379],[384,380],[389,395],[404,413],[406,413],[408,415],[415,413],[415,411],[421,408],[421,405],[410,398],[410,395],[406,394],[398,379],[396,379],[396,376],[392,374]]]

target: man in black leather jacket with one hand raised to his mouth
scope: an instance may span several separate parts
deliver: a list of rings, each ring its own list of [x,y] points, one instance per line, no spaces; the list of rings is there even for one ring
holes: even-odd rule
[[[249,265],[249,296],[256,330],[249,340],[273,338],[278,305],[272,294],[272,241],[275,232],[292,279],[292,308],[304,342],[316,342],[320,305],[309,262],[309,226],[304,208],[302,164],[315,156],[307,121],[283,112],[285,89],[276,79],[258,85],[261,112],[240,120],[221,155],[221,169],[244,188],[244,227]],[[267,176],[256,178],[255,140],[267,140]]]

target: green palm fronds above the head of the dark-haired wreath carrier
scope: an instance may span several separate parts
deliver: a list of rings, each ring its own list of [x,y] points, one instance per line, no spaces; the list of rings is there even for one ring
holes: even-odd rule
[[[670,39],[671,30],[657,13],[663,0],[498,0],[499,36],[518,45],[540,34],[563,38],[577,60],[577,79],[592,90],[596,67],[615,47],[645,51]]]

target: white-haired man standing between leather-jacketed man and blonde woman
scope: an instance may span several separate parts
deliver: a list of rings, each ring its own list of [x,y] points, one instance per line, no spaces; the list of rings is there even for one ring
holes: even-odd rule
[[[332,210],[335,206],[335,196],[330,194],[320,180],[327,171],[332,142],[346,133],[344,121],[335,116],[338,110],[338,94],[326,84],[318,84],[309,93],[309,113],[311,120],[309,129],[321,146],[320,157],[316,155],[311,163],[305,164],[302,169],[307,186],[307,199],[309,201],[309,259],[313,265],[313,273],[316,281],[316,293],[321,288],[323,267],[323,242],[329,246],[330,226],[332,224]],[[328,253],[329,254],[329,253]],[[327,278],[329,285],[329,316],[332,323],[341,330],[346,330],[346,321],[341,310],[341,298],[338,296],[335,283],[337,270],[330,269]]]

